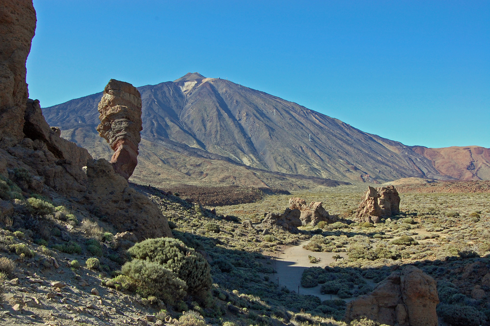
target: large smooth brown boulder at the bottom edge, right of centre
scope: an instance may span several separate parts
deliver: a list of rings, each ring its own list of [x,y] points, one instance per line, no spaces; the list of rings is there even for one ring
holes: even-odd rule
[[[415,266],[393,272],[367,295],[347,303],[344,319],[366,316],[386,325],[437,326],[439,303],[436,281]]]

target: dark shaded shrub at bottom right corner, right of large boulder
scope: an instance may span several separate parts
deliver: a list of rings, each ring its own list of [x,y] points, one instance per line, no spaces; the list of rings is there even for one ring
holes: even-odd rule
[[[468,305],[441,303],[437,307],[437,314],[446,323],[454,326],[479,326],[487,321],[483,312]]]

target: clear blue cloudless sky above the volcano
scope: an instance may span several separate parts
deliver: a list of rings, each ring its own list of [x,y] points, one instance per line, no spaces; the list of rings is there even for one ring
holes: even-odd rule
[[[42,107],[188,72],[228,78],[363,131],[490,147],[490,1],[34,0]]]

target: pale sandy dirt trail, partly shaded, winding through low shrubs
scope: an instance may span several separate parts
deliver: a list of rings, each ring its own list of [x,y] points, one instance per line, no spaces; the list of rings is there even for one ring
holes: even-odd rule
[[[313,266],[325,267],[329,263],[333,262],[332,256],[337,254],[337,252],[313,252],[303,249],[303,246],[308,244],[309,241],[301,241],[296,246],[283,247],[283,252],[278,254],[278,259],[275,262],[275,270],[277,274],[274,275],[274,279],[277,282],[279,278],[279,286],[286,286],[291,291],[298,291],[299,294],[311,294],[313,296],[319,297],[322,301],[328,300],[330,297],[332,299],[339,299],[337,295],[330,296],[329,294],[320,294],[320,285],[313,288],[304,288],[301,286],[301,275],[303,270]],[[339,252],[343,257],[347,256],[346,252]],[[308,255],[320,258],[320,262],[317,264],[310,263]],[[353,298],[345,299],[345,301],[350,301]]]

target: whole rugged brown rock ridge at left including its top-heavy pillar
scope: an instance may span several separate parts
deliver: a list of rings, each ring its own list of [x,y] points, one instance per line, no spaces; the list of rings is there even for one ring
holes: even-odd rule
[[[141,140],[138,90],[114,79],[105,87],[98,131],[115,153],[111,162],[94,160],[48,125],[39,100],[28,99],[25,62],[36,29],[32,1],[5,1],[0,16],[0,175],[13,179],[21,171],[28,176],[21,184],[25,195],[67,196],[139,240],[172,236],[156,204],[127,182]],[[10,209],[2,203],[2,214]]]

